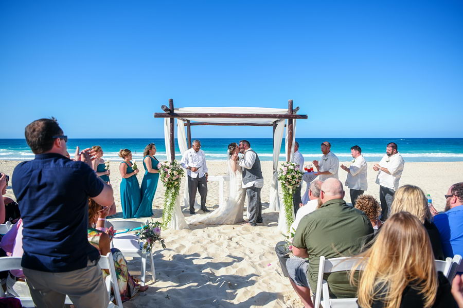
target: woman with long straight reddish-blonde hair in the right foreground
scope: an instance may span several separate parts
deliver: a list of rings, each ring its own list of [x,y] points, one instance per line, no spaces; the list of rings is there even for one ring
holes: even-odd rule
[[[390,216],[359,257],[358,266],[365,264],[358,282],[361,308],[456,307],[450,282],[436,273],[428,233],[416,216],[405,211]],[[354,273],[351,282],[357,284]]]

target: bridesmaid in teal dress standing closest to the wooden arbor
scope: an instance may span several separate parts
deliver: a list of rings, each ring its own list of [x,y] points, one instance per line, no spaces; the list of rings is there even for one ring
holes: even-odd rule
[[[145,176],[141,182],[141,203],[135,217],[151,217],[153,216],[154,194],[157,188],[157,180],[159,179],[159,171],[157,164],[159,161],[154,157],[156,154],[156,146],[154,143],[150,143],[145,147],[143,152],[143,166],[145,167]]]

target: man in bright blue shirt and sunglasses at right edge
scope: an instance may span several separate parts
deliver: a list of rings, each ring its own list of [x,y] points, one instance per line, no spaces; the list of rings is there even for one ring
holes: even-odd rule
[[[445,212],[434,216],[444,256],[463,256],[463,182],[450,186],[445,197]]]

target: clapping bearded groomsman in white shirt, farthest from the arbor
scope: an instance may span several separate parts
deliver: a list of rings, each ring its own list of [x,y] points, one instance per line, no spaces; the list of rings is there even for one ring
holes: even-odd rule
[[[402,176],[404,161],[397,144],[394,142],[386,146],[386,155],[379,164],[373,165],[373,170],[379,171],[376,184],[380,185],[381,221],[386,221],[390,213],[390,205],[394,200],[394,194],[399,188],[400,177]]]

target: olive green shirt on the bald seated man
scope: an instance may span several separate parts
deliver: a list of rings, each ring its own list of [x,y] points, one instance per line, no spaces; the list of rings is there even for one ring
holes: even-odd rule
[[[325,202],[320,208],[304,216],[299,222],[293,245],[306,248],[309,254],[308,281],[316,291],[320,256],[349,257],[361,252],[371,239],[373,227],[363,211],[346,204],[342,199]],[[356,297],[357,288],[349,283],[348,273],[326,274],[331,296]]]

